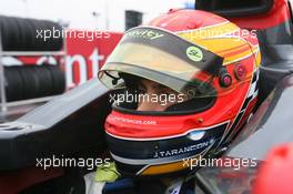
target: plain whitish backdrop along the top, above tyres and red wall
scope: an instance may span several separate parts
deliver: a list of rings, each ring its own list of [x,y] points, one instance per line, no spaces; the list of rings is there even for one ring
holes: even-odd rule
[[[105,30],[108,25],[108,30],[124,31],[125,10],[142,11],[148,21],[186,1],[193,0],[0,0],[0,14],[62,20],[75,29]]]

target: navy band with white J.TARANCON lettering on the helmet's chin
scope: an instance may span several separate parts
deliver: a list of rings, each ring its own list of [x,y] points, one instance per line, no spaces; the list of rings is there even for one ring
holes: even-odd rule
[[[122,172],[128,172],[128,170],[123,170],[127,165],[135,166],[135,174],[139,175],[143,173],[142,169],[146,169],[146,166],[174,162],[183,163],[184,159],[201,155],[208,150],[216,147],[229,123],[224,122],[205,129],[194,129],[180,135],[154,139],[124,139],[107,132],[107,140],[118,167]],[[156,129],[160,130],[160,126]],[[191,137],[193,133],[201,132],[204,132],[204,135],[200,140]],[[141,152],[144,153],[143,157]],[[188,166],[182,167],[186,169]]]

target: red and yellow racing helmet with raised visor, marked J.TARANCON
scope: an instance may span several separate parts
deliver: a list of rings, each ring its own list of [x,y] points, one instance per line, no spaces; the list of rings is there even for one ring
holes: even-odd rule
[[[150,176],[188,170],[185,160],[229,142],[256,102],[259,64],[255,34],[205,11],[170,10],[127,31],[100,81],[129,89],[144,78],[191,98],[165,111],[138,111],[118,98],[105,121],[118,171]]]

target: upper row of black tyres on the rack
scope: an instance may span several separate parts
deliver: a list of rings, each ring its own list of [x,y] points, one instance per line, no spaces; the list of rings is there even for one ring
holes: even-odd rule
[[[0,16],[0,27],[4,51],[60,51],[63,45],[62,27],[52,21]]]

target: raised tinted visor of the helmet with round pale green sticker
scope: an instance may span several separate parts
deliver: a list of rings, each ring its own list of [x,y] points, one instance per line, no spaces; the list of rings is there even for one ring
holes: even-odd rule
[[[211,96],[216,93],[206,83],[219,75],[222,63],[223,58],[171,32],[139,27],[125,32],[99,72],[99,79],[110,89],[121,89],[124,86],[121,73],[128,73],[180,93],[193,88],[198,90],[196,96]]]

